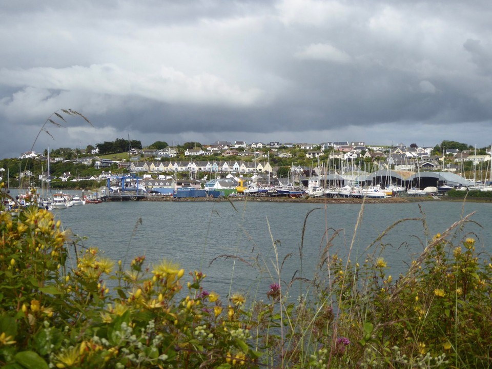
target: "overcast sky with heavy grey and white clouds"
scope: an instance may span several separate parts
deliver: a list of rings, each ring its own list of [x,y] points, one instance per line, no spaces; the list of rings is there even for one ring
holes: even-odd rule
[[[490,19],[488,0],[0,2],[0,158],[128,137],[488,147]]]

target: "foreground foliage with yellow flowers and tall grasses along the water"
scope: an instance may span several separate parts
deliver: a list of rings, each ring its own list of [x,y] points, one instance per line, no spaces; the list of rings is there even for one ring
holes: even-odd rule
[[[463,222],[466,220],[463,219]],[[458,224],[460,225],[460,224]],[[386,261],[321,258],[310,294],[272,283],[228,300],[177,264],[71,258],[45,210],[0,215],[0,363],[6,368],[486,367],[490,277],[475,239],[437,235],[399,278]],[[80,249],[80,248],[79,248]],[[114,271],[113,271],[114,269]],[[108,286],[112,285],[112,291]],[[311,297],[310,297],[311,296]]]

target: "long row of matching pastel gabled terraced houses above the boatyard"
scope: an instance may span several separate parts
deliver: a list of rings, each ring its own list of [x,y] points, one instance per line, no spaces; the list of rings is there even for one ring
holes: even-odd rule
[[[268,161],[132,161],[120,162],[120,169],[128,169],[135,173],[163,172],[221,172],[221,173],[258,173],[273,172]],[[296,168],[297,169],[297,168]]]

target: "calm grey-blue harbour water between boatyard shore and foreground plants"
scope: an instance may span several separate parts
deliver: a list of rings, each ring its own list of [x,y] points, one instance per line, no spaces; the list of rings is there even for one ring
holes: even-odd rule
[[[461,215],[476,211],[457,237],[473,232],[479,247],[490,252],[492,204],[428,201],[399,204],[367,204],[354,237],[359,204],[311,204],[279,202],[108,202],[86,204],[55,210],[65,228],[79,236],[87,236],[84,245],[98,247],[106,256],[129,263],[146,255],[150,263],[162,259],[178,262],[186,271],[201,270],[208,275],[204,286],[221,295],[232,292],[262,293],[268,290],[276,275],[273,241],[277,242],[282,279],[302,275],[311,278],[320,260],[320,251],[339,230],[330,252],[346,256],[354,238],[352,262],[363,263],[372,250],[367,247],[386,228],[404,218],[422,220],[399,223],[376,245],[384,245],[383,256],[391,265],[390,273],[403,271],[412,255],[420,253],[425,240],[442,233]],[[313,210],[315,209],[315,210]],[[302,247],[302,229],[306,214]],[[141,220],[141,221],[140,221]],[[374,250],[374,249],[373,249]],[[379,249],[378,249],[379,250]],[[233,258],[231,256],[237,256]],[[240,258],[240,259],[239,259]],[[212,265],[210,265],[212,263]],[[261,297],[263,298],[263,297]]]

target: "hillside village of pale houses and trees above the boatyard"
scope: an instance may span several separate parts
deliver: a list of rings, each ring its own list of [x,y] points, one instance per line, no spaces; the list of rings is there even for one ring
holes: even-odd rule
[[[63,156],[50,157],[51,163],[70,162],[93,167],[97,174],[80,176],[70,171],[51,176],[50,181],[77,182],[84,180],[106,180],[115,176],[133,173],[144,179],[170,179],[179,175],[182,178],[202,179],[207,174],[215,177],[253,176],[269,173],[276,177],[279,168],[284,167],[290,175],[324,175],[338,171],[354,170],[354,163],[359,171],[371,172],[387,168],[401,171],[447,171],[461,174],[465,162],[486,162],[491,158],[488,150],[485,155],[475,155],[471,150],[459,151],[445,149],[444,153],[435,155],[435,148],[406,146],[400,143],[394,147],[366,146],[362,141],[323,142],[322,144],[286,142],[252,142],[217,141],[194,149],[165,147],[162,149],[131,148],[119,157],[99,155],[98,147],[78,150],[77,157],[67,159]],[[73,156],[73,155],[72,155]],[[109,156],[109,157],[108,157]],[[35,152],[26,152],[20,159],[32,158],[44,161],[47,157]],[[330,163],[338,163],[330,167]],[[350,168],[350,169],[348,169]],[[53,173],[50,171],[50,173]],[[20,177],[36,176],[26,170]],[[47,181],[46,172],[37,175],[40,181]],[[207,178],[207,177],[206,177]],[[208,179],[211,179],[210,175]]]

